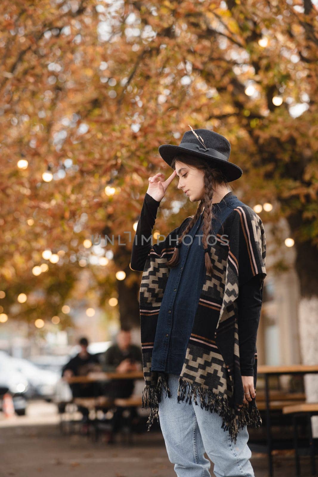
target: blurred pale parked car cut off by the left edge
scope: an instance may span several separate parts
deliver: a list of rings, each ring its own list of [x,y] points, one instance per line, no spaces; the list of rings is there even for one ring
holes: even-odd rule
[[[11,356],[0,351],[0,389],[8,390],[13,399],[14,410],[17,415],[25,415],[28,397],[28,380],[16,369]],[[0,396],[0,410],[2,410],[3,395]]]

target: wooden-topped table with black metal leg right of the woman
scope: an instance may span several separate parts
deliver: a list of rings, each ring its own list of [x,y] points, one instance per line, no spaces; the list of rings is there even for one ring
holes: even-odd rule
[[[266,427],[267,427],[267,458],[268,471],[270,477],[273,477],[273,458],[272,458],[272,433],[270,421],[270,400],[269,400],[269,376],[280,376],[282,374],[314,374],[318,373],[318,364],[291,364],[287,366],[267,366],[259,364],[257,366],[258,374],[264,374],[265,378],[265,401],[266,401]],[[257,398],[257,394],[256,394]]]

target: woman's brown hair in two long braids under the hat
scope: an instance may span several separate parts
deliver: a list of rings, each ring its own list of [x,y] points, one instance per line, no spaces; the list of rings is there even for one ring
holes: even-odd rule
[[[182,155],[182,156],[175,156],[172,163],[171,167],[175,170],[175,161],[181,161],[188,166],[194,166],[199,170],[202,170],[204,172],[204,194],[202,199],[199,202],[199,205],[195,211],[195,215],[191,218],[190,222],[186,226],[185,230],[183,231],[182,235],[178,238],[178,242],[175,245],[174,248],[174,253],[173,256],[169,261],[167,261],[168,267],[172,268],[175,267],[178,264],[178,259],[179,259],[179,248],[181,247],[181,242],[183,237],[191,230],[191,228],[195,225],[195,222],[197,219],[200,217],[200,214],[203,212],[203,238],[202,238],[202,243],[204,246],[204,251],[205,251],[205,269],[207,273],[211,274],[213,273],[213,267],[211,263],[211,258],[208,253],[208,248],[207,248],[207,239],[208,236],[211,234],[211,223],[213,218],[215,218],[215,214],[213,213],[212,210],[212,200],[213,200],[213,195],[215,193],[215,188],[218,185],[226,185],[229,190],[232,190],[229,184],[226,182],[226,178],[224,177],[222,171],[220,169],[213,167],[209,163],[206,163],[205,160],[200,159],[195,156],[187,156],[187,155]]]

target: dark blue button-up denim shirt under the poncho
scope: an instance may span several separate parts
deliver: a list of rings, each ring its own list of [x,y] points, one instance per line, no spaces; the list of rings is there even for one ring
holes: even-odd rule
[[[237,197],[230,191],[221,202],[213,205],[215,218],[212,220],[212,234],[216,235],[236,204]],[[157,321],[152,371],[179,375],[182,371],[205,280],[202,217],[203,213],[184,237],[179,248],[178,265],[172,267],[169,272]],[[210,243],[213,243],[213,240],[213,236],[209,238]]]

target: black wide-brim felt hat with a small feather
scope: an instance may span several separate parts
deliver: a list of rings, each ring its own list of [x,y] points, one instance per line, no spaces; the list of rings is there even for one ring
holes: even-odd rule
[[[191,126],[190,126],[191,127]],[[226,137],[209,129],[192,129],[186,131],[180,144],[162,144],[159,146],[160,156],[171,166],[175,156],[187,155],[202,157],[213,167],[220,169],[227,182],[242,176],[240,167],[228,161],[231,145]]]

